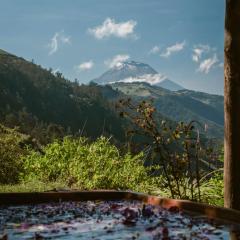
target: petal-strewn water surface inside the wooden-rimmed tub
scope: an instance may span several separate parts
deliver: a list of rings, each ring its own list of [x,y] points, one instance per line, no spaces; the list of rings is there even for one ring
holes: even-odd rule
[[[0,207],[0,240],[229,239],[240,226],[138,201],[61,202]]]

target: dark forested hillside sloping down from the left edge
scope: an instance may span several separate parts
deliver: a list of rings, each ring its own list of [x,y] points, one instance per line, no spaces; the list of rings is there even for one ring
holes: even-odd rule
[[[45,142],[78,132],[124,136],[121,121],[95,85],[79,85],[61,73],[0,50],[0,122],[19,126]]]

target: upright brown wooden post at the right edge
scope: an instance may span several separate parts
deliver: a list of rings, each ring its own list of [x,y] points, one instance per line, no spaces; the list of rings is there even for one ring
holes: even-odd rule
[[[224,205],[240,210],[240,0],[226,0]]]

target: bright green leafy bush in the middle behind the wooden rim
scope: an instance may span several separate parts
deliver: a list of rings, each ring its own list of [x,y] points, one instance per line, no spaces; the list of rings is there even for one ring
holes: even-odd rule
[[[81,189],[131,189],[143,191],[150,184],[143,154],[121,155],[101,137],[93,143],[85,138],[65,137],[23,159],[25,181],[60,181]]]

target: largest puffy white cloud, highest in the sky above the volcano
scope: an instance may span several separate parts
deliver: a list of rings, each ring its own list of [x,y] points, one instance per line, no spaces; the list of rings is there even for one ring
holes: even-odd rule
[[[90,28],[88,31],[97,39],[103,39],[111,36],[128,38],[136,37],[134,34],[134,28],[136,25],[137,22],[133,20],[116,23],[114,19],[107,18],[102,25]]]

